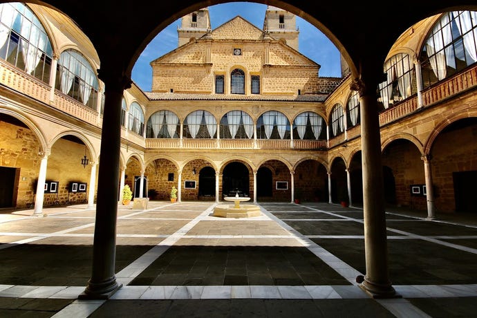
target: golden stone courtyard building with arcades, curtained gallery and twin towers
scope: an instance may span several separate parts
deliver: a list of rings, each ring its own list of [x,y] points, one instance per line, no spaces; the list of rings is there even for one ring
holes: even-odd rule
[[[88,203],[97,194],[104,83],[70,19],[3,3],[0,207]],[[28,19],[27,19],[28,18]],[[429,17],[396,39],[377,87],[384,200],[477,212],[476,12]],[[30,28],[27,27],[31,26]],[[32,31],[33,30],[33,31]],[[122,102],[120,184],[135,198],[363,203],[361,111],[353,79],[319,77],[299,53],[294,15],[268,7],[211,30],[183,17],[178,48],[151,62],[150,92]],[[1,39],[0,39],[1,40]],[[86,162],[87,159],[87,162]]]

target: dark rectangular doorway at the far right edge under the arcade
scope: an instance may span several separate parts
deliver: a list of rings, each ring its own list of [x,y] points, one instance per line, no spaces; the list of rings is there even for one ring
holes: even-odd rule
[[[456,212],[477,213],[474,203],[477,171],[453,172],[453,191],[456,199]]]

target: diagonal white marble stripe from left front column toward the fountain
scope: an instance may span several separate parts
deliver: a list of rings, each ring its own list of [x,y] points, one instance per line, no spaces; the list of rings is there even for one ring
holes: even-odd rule
[[[118,274],[116,274],[116,279],[119,283],[124,285],[129,284],[138,274],[144,271],[153,261],[156,261],[160,255],[162,255],[169,247],[174,245],[180,238],[183,238],[187,232],[199,223],[205,216],[211,213],[216,204],[212,204],[202,213],[200,213],[196,218],[191,220],[189,223],[181,227],[174,234],[167,236],[163,241],[160,241],[158,245],[151,248],[151,250],[142,254],[142,256],[135,259],[125,268],[123,268]]]

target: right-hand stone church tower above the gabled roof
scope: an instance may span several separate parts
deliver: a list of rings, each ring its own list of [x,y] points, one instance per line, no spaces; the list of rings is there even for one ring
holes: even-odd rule
[[[284,40],[288,46],[298,50],[297,19],[295,15],[274,6],[268,6],[263,20],[263,32],[270,37]]]

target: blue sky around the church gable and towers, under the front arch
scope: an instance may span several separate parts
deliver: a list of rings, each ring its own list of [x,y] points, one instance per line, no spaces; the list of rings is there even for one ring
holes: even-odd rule
[[[262,30],[266,9],[266,5],[250,2],[232,2],[210,6],[209,15],[212,30],[237,15]],[[151,91],[152,68],[149,63],[177,48],[178,26],[180,26],[180,20],[162,30],[149,43],[135,63],[132,79],[142,91]],[[319,75],[321,77],[340,77],[339,51],[328,37],[300,17],[297,17],[297,28],[300,31],[299,52],[321,65]]]

